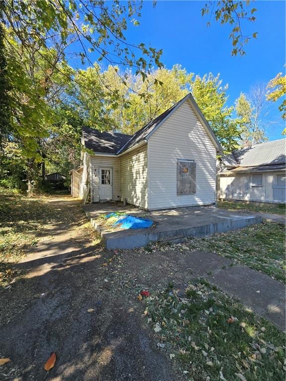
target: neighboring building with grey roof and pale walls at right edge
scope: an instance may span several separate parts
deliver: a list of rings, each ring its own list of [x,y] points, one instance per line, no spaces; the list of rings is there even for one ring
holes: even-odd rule
[[[284,203],[286,139],[256,144],[224,155],[218,198]]]

